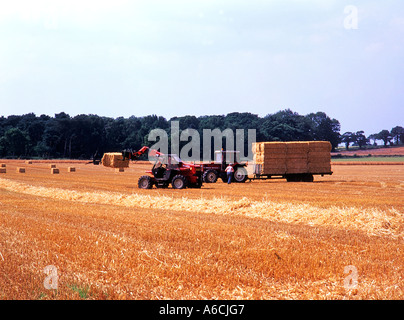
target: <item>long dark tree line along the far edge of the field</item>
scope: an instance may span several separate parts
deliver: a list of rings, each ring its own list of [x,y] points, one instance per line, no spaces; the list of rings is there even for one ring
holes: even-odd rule
[[[349,147],[351,143],[363,146],[370,139],[403,143],[404,138],[401,127],[389,131],[388,138],[384,133],[363,138],[363,131],[341,135],[339,121],[326,113],[300,115],[290,109],[265,117],[233,112],[171,119],[157,115],[111,118],[94,114],[71,117],[64,112],[53,117],[28,113],[0,117],[0,157],[91,159],[96,153],[138,150],[155,143],[148,139],[151,130],[160,128],[170,134],[170,122],[174,120],[179,121],[180,130],[196,129],[201,136],[203,129],[256,129],[258,142],[323,140],[330,141],[334,149],[341,142]]]

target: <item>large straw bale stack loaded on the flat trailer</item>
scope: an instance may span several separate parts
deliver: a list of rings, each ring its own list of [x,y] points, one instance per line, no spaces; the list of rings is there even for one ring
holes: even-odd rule
[[[253,146],[254,174],[282,176],[288,181],[312,181],[313,174],[331,174],[328,141],[259,142]]]

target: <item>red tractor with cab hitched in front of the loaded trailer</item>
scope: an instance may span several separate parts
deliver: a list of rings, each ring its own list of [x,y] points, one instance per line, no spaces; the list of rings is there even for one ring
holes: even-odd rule
[[[234,168],[233,181],[245,182],[248,178],[246,163],[240,162],[240,151],[215,151],[215,161],[201,164],[202,179],[206,183],[215,183],[218,178],[227,181],[226,167]]]

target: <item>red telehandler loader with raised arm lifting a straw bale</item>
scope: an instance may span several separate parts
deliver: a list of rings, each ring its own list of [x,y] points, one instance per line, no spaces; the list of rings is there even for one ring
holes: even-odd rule
[[[143,147],[137,152],[123,151],[123,159],[138,160],[139,157],[148,152],[149,147]],[[200,188],[202,187],[201,167],[192,163],[183,162],[175,154],[162,154],[156,150],[150,150],[149,155],[156,156],[153,168],[146,173],[150,175],[141,176],[138,180],[138,187],[151,189],[168,188],[172,185],[174,189]]]

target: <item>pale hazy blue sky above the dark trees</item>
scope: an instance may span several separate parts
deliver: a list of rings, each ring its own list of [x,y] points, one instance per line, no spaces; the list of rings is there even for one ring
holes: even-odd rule
[[[404,1],[0,0],[0,116],[323,111],[404,126]]]

